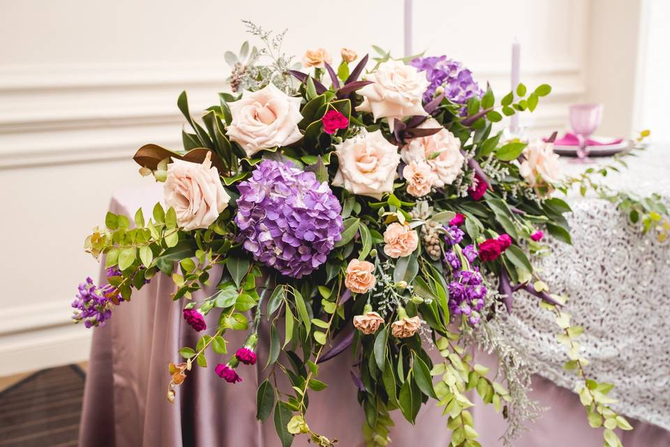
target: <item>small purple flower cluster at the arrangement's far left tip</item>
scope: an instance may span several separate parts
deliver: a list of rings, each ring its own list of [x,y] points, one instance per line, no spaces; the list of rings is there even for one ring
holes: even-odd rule
[[[79,293],[72,302],[75,309],[72,318],[77,323],[83,321],[87,328],[104,325],[112,316],[112,309],[119,299],[116,288],[110,284],[96,286],[93,279],[87,277],[86,282],[79,285]]]

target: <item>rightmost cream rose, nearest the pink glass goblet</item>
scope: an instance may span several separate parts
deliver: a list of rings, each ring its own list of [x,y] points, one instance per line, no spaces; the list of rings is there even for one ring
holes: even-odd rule
[[[553,184],[563,177],[558,154],[553,152],[553,143],[534,140],[523,149],[523,156],[525,160],[521,162],[519,174],[530,186]]]

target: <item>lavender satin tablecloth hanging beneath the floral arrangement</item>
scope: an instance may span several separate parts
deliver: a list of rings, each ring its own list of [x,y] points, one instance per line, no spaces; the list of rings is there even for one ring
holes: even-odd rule
[[[161,197],[160,185],[121,191],[112,198],[111,210],[132,215],[142,206],[147,215]],[[169,278],[157,275],[151,284],[133,294],[131,302],[114,309],[103,328],[94,330],[80,446],[280,446],[272,420],[264,424],[255,420],[256,388],[266,375],[262,365],[267,358],[267,327],[261,328],[257,365],[240,365],[237,369],[241,383],[230,384],[216,376],[214,366],[221,359],[210,354],[209,368],[194,368],[177,388],[174,404],[168,402],[168,362],[179,361],[177,350],[181,346],[194,346],[200,335],[211,334],[216,325],[216,314],[211,313],[206,332],[198,333],[188,326],[181,317],[183,303],[170,299],[173,288]],[[229,331],[229,351],[242,346],[245,337],[244,331]],[[437,355],[436,351],[432,353]],[[493,362],[486,354],[477,356],[479,362]],[[310,394],[308,423],[317,432],[338,436],[339,446],[362,447],[364,413],[350,379],[351,364],[350,353],[345,351],[322,365],[319,379],[329,386]],[[282,386],[289,385],[280,383]],[[531,431],[514,446],[602,446],[600,430],[588,427],[576,395],[539,376],[535,377],[534,388],[533,397],[551,409],[529,424]],[[473,396],[472,400],[477,404],[472,413],[482,446],[502,445],[498,440],[505,431],[502,416],[491,406],[484,407],[479,397]],[[429,404],[419,413],[415,427],[405,422],[399,411],[392,416],[396,423],[392,446],[448,446],[449,430],[442,409]],[[625,446],[670,445],[670,432],[631,423],[635,430],[621,434]],[[293,445],[308,446],[306,440],[298,437]]]

